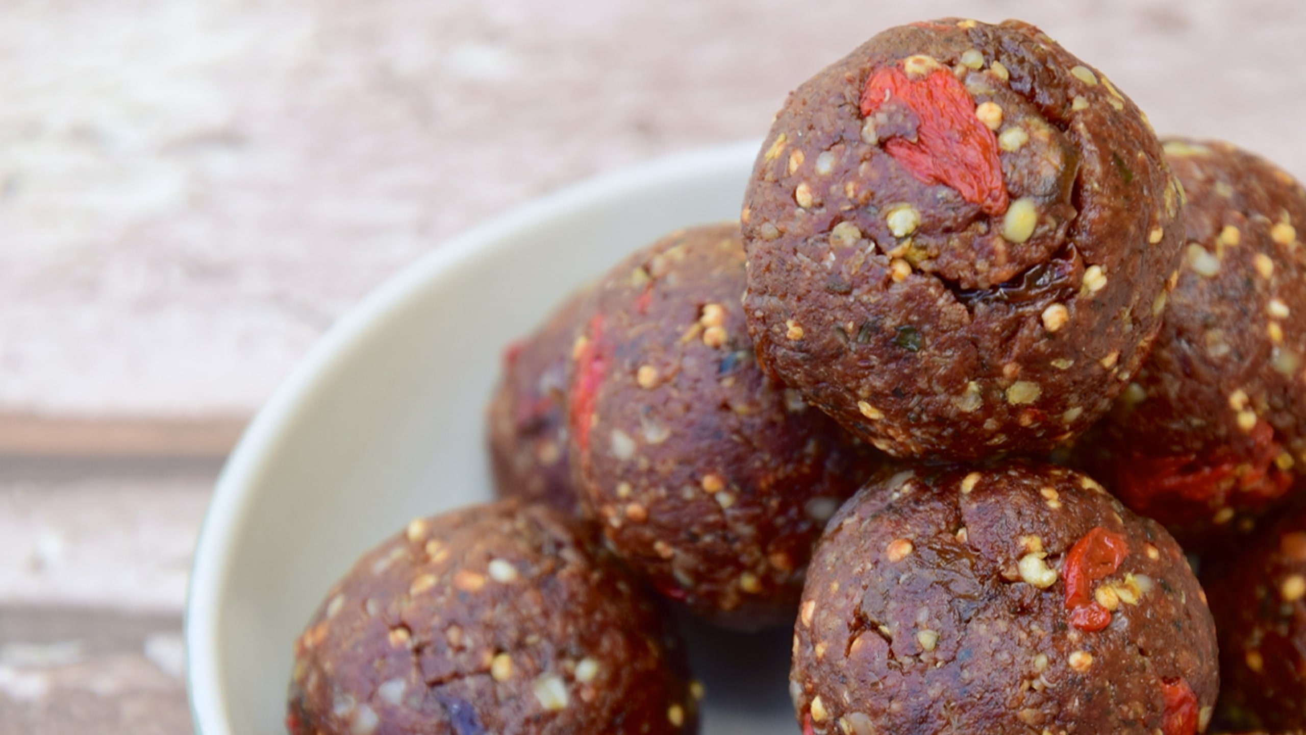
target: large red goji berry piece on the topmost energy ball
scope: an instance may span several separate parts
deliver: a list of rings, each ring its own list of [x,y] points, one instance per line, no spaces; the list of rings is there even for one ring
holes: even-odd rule
[[[947,184],[989,214],[1007,211],[998,139],[976,118],[976,101],[944,68],[921,78],[897,67],[880,67],[862,90],[862,116],[897,98],[919,118],[916,140],[889,137],[884,150],[917,179]]]

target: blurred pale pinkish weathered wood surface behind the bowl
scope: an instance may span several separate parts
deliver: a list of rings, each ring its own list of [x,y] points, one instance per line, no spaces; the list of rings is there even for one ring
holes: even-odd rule
[[[191,547],[363,294],[530,197],[760,139],[874,33],[1036,22],[1306,175],[1293,0],[4,0],[0,732],[185,734]]]

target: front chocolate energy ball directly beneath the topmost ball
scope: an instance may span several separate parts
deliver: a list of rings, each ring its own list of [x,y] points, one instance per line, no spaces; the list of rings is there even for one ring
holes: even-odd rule
[[[1218,685],[1178,544],[1051,466],[867,485],[831,519],[794,630],[816,735],[1194,735]]]

